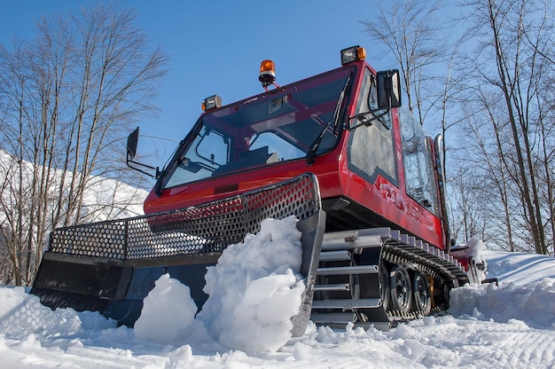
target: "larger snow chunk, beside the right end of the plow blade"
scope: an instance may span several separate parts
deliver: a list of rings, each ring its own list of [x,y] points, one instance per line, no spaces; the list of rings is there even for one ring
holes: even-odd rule
[[[199,313],[212,336],[248,354],[275,352],[291,338],[305,286],[296,218],[267,219],[244,243],[227,247],[209,267]]]

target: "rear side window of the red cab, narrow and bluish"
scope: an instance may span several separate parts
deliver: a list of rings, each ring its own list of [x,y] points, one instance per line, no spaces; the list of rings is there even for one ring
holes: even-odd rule
[[[403,164],[407,194],[428,210],[438,214],[438,196],[430,140],[406,109],[399,110],[403,141]]]

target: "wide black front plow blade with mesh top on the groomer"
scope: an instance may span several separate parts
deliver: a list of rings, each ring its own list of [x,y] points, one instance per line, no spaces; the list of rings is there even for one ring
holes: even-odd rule
[[[154,282],[169,273],[191,287],[201,310],[208,297],[202,291],[207,266],[215,265],[226,247],[258,232],[262,220],[286,216],[299,219],[302,233],[307,288],[292,319],[293,335],[301,335],[310,317],[325,226],[312,174],[194,208],[54,230],[31,293],[51,309],[99,311],[133,326]]]

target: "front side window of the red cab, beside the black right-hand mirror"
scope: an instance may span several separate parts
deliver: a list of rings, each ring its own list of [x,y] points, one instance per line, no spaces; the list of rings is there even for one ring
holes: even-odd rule
[[[366,69],[361,92],[356,103],[356,114],[370,112],[377,107],[376,79]],[[353,130],[348,143],[348,165],[361,177],[374,183],[378,175],[397,185],[395,143],[393,130],[379,120]]]

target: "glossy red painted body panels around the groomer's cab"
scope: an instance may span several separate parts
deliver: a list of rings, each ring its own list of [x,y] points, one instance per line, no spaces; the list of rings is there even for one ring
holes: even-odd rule
[[[363,70],[369,67],[364,61],[358,64],[355,75],[355,89],[348,101],[348,115],[355,114],[356,96],[361,88]],[[372,69],[373,71],[373,69]],[[395,160],[398,186],[385,177],[378,176],[375,183],[369,183],[348,169],[347,145],[350,132],[344,130],[339,145],[331,152],[317,156],[314,163],[307,161],[284,161],[259,169],[234,173],[229,176],[208,178],[207,180],[166,189],[156,194],[152,191],[145,200],[145,214],[188,208],[221,199],[239,192],[275,184],[301,173],[312,172],[317,175],[323,200],[337,197],[347,198],[363,208],[397,224],[435,247],[444,248],[442,221],[434,216],[405,192],[402,141],[396,109],[391,112],[393,119]]]

